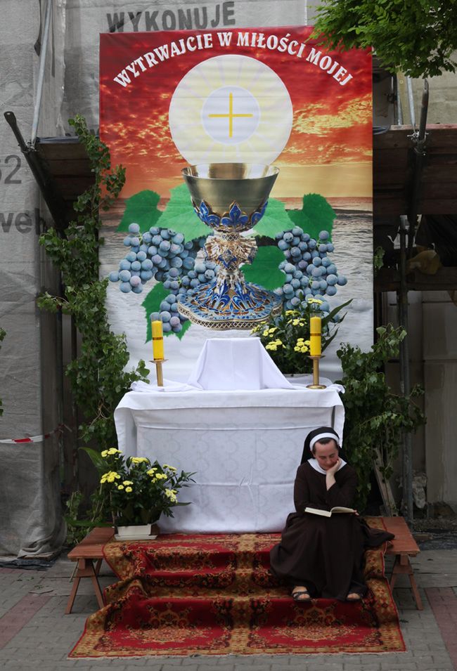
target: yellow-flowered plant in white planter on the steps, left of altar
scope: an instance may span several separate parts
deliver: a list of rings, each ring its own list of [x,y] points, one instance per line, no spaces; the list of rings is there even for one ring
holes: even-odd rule
[[[146,457],[125,457],[120,450],[110,448],[100,453],[83,448],[98,470],[100,491],[117,526],[149,524],[161,514],[173,517],[173,508],[186,506],[179,502],[178,491],[188,486],[193,473]]]

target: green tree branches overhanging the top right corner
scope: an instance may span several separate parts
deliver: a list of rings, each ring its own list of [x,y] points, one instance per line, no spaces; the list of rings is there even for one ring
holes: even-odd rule
[[[455,0],[322,0],[314,36],[328,48],[373,46],[392,72],[434,77],[456,70],[456,10]]]

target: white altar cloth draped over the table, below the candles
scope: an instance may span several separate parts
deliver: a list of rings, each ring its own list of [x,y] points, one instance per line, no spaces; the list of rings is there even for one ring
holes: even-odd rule
[[[114,415],[119,448],[196,471],[179,493],[191,505],[160,518],[165,533],[280,531],[305,436],[318,426],[342,436],[337,389],[129,391]]]

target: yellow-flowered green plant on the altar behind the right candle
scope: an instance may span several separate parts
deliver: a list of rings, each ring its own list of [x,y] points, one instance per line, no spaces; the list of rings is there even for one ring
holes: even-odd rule
[[[306,306],[300,304],[295,310],[286,310],[276,318],[260,324],[252,330],[258,336],[266,351],[284,374],[308,373],[312,370],[309,354],[309,324],[313,316],[321,317],[322,351],[333,341],[337,334],[337,323],[341,323],[345,315],[340,311],[347,307],[347,301],[332,311],[328,311],[328,303],[316,298],[307,299]]]

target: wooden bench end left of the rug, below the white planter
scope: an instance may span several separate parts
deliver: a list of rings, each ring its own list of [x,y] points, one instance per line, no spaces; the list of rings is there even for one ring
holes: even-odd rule
[[[113,533],[114,530],[112,527],[96,527],[68,553],[68,559],[77,561],[77,568],[73,580],[72,591],[70,592],[70,597],[68,597],[67,608],[65,608],[65,615],[72,612],[73,603],[79,587],[79,580],[81,580],[81,578],[91,578],[98,606],[103,608],[105,605],[103,594],[98,583],[98,571],[100,571],[101,563],[103,561],[103,545],[112,538]],[[96,561],[95,566],[94,561]]]

